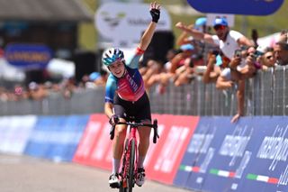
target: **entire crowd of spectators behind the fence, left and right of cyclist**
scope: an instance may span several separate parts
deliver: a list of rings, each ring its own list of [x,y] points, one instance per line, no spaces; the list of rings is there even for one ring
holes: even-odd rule
[[[257,44],[256,30],[249,39],[231,30],[226,18],[216,18],[212,29],[206,22],[206,18],[201,17],[189,25],[176,23],[175,27],[182,31],[176,39],[178,49],[166,52],[166,63],[149,59],[140,73],[147,89],[157,86],[158,94],[166,93],[168,83],[179,87],[199,76],[203,83],[214,83],[220,90],[235,89],[238,112],[231,120],[234,123],[244,115],[245,80],[255,77],[258,70],[288,64],[288,32],[281,32],[279,40],[267,47]],[[104,87],[107,76],[108,71],[102,70],[86,74],[78,83],[74,78],[64,78],[58,83],[30,82],[26,87],[15,85],[13,90],[0,87],[0,100],[41,100],[54,93],[68,99],[76,90]]]

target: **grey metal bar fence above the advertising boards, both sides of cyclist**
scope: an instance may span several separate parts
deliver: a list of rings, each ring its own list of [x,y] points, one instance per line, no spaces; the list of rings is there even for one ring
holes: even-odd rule
[[[288,70],[277,67],[259,71],[246,82],[246,115],[288,114]],[[237,111],[237,87],[217,90],[215,84],[203,84],[200,77],[181,87],[170,82],[166,92],[158,87],[148,91],[151,110],[156,114],[233,115]],[[53,94],[41,101],[0,101],[0,115],[18,114],[92,114],[103,113],[104,88],[81,89],[70,99]]]

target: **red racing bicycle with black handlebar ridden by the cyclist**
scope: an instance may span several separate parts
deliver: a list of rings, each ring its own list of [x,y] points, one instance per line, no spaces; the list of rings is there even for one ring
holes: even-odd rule
[[[157,138],[159,138],[159,135],[157,134],[157,120],[155,119],[153,121],[153,124],[134,123],[132,121],[129,121],[127,123],[117,122],[116,124],[126,124],[130,128],[129,136],[126,138],[125,148],[124,148],[122,158],[121,158],[121,172],[119,174],[120,176],[119,191],[131,192],[135,184],[135,180],[136,180],[135,176],[137,173],[137,169],[135,166],[137,165],[137,161],[138,161],[138,145],[137,145],[138,142],[136,138],[137,128],[139,126],[152,127],[154,130],[153,142],[156,143]],[[112,126],[111,131],[110,131],[111,140],[114,138],[115,125]]]

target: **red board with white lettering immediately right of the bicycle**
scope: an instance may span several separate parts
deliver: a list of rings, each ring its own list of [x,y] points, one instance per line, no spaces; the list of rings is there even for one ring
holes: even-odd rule
[[[161,135],[148,162],[147,174],[148,178],[172,184],[199,117],[171,114],[156,117]]]

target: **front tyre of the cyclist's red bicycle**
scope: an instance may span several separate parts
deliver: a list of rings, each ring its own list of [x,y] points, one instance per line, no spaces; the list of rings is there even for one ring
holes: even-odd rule
[[[128,191],[132,192],[134,187],[134,173],[135,173],[135,140],[130,142],[130,160],[129,160],[129,179],[128,179]]]

